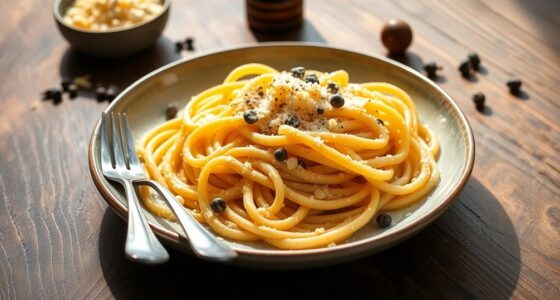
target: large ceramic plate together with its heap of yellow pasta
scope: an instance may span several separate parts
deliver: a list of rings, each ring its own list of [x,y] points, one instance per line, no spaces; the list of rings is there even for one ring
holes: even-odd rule
[[[166,119],[170,104],[179,112]],[[468,121],[438,86],[384,57],[324,45],[180,60],[106,112],[128,115],[147,177],[236,250],[238,265],[318,266],[386,249],[441,215],[474,163]],[[99,143],[98,124],[92,177],[126,217],[122,191],[101,175]],[[190,252],[165,202],[139,192],[160,239]]]

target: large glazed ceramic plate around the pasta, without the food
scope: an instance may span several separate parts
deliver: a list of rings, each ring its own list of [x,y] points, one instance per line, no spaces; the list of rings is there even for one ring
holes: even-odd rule
[[[233,68],[250,62],[279,70],[293,66],[334,71],[345,69],[351,82],[385,81],[396,84],[412,97],[420,120],[435,131],[441,142],[438,165],[441,181],[425,200],[391,212],[393,225],[379,229],[374,222],[349,240],[333,247],[311,250],[278,250],[262,243],[226,241],[238,251],[236,265],[259,268],[304,268],[340,263],[386,249],[412,236],[440,216],[465,185],[474,164],[474,139],[469,123],[457,104],[429,79],[384,57],[317,44],[269,43],[211,52],[180,60],[144,76],[128,87],[105,110],[126,112],[132,134],[138,140],[148,129],[164,122],[169,103],[185,105],[191,96],[223,81]],[[102,175],[99,161],[99,123],[89,144],[92,178],[107,203],[126,220],[123,192]],[[173,222],[146,211],[150,225],[169,246],[190,252],[186,237]]]

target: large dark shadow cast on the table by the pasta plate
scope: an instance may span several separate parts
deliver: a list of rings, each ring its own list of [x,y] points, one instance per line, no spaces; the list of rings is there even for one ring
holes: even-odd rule
[[[144,266],[124,255],[126,225],[105,212],[99,256],[116,298],[488,298],[516,287],[520,250],[499,201],[471,178],[462,195],[420,234],[377,255],[331,267],[266,271],[204,262],[170,249],[171,262]],[[212,287],[212,288],[209,288]]]

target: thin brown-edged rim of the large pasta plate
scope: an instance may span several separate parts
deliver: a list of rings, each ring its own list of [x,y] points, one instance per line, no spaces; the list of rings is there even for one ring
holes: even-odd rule
[[[467,183],[467,181],[470,177],[470,174],[473,170],[473,167],[474,167],[475,140],[474,140],[473,131],[472,131],[472,128],[469,124],[469,121],[468,121],[466,115],[464,114],[464,112],[459,107],[459,105],[455,102],[455,100],[453,100],[453,98],[451,98],[451,96],[449,96],[442,88],[437,86],[432,80],[428,79],[423,74],[414,70],[411,67],[403,65],[403,64],[401,64],[397,61],[391,60],[391,59],[386,58],[386,57],[381,56],[381,55],[361,52],[361,51],[357,51],[357,50],[350,49],[350,48],[336,47],[336,46],[331,46],[331,45],[322,44],[322,43],[314,43],[314,42],[265,42],[265,43],[258,43],[258,44],[250,43],[250,44],[242,44],[242,45],[236,45],[236,46],[226,47],[226,48],[219,48],[219,49],[212,50],[212,51],[206,51],[206,52],[197,54],[195,56],[183,57],[183,58],[181,58],[177,61],[166,64],[166,65],[164,65],[164,66],[162,66],[158,69],[155,69],[152,72],[144,75],[143,77],[141,77],[140,79],[135,81],[133,84],[128,86],[123,92],[121,92],[117,96],[117,98],[115,98],[115,100],[104,110],[104,112],[107,113],[107,112],[110,112],[111,110],[113,110],[113,108],[117,105],[117,103],[119,103],[127,94],[129,94],[137,86],[143,84],[144,81],[148,80],[152,76],[155,76],[159,73],[162,73],[162,72],[164,72],[168,69],[171,69],[171,68],[173,68],[177,65],[183,64],[187,61],[196,60],[196,59],[206,57],[206,56],[216,55],[216,54],[219,54],[219,53],[222,53],[222,52],[234,52],[234,51],[239,51],[239,50],[243,50],[243,49],[250,49],[250,48],[274,48],[274,47],[327,48],[327,49],[336,50],[336,51],[358,54],[358,55],[365,56],[365,57],[368,57],[368,58],[371,58],[371,59],[378,59],[378,60],[381,60],[381,61],[383,61],[385,63],[388,63],[388,64],[391,64],[391,65],[395,65],[397,67],[400,67],[400,68],[412,73],[413,75],[416,75],[417,79],[423,80],[425,83],[427,83],[432,88],[436,89],[439,93],[441,93],[444,96],[444,98],[446,99],[446,101],[449,103],[451,108],[455,112],[457,112],[457,114],[456,114],[457,119],[460,121],[460,124],[463,125],[462,126],[463,129],[464,129],[464,134],[463,135],[466,137],[465,141],[466,141],[466,147],[467,147],[467,149],[466,149],[467,160],[465,162],[465,168],[463,169],[463,171],[461,172],[461,174],[459,176],[458,184],[456,184],[454,187],[452,187],[450,189],[450,191],[448,191],[445,195],[443,195],[441,197],[443,200],[441,202],[439,202],[436,205],[436,207],[431,209],[425,215],[420,216],[414,222],[411,222],[409,224],[405,224],[404,226],[402,226],[401,228],[398,228],[395,231],[382,232],[380,234],[377,234],[377,235],[374,235],[374,236],[371,236],[371,237],[367,237],[367,238],[364,238],[364,239],[361,239],[361,240],[352,241],[350,243],[338,244],[338,245],[335,245],[333,247],[321,247],[321,248],[303,249],[303,250],[236,248],[235,251],[237,251],[239,254],[248,255],[248,256],[269,257],[269,258],[273,258],[273,257],[275,257],[275,258],[292,257],[293,258],[293,257],[310,257],[310,256],[318,256],[318,255],[328,255],[328,254],[334,254],[336,252],[351,251],[352,249],[368,248],[367,246],[369,244],[375,243],[376,241],[381,240],[381,239],[386,239],[387,244],[389,244],[389,243],[394,242],[395,240],[398,240],[400,236],[402,236],[403,238],[408,238],[408,237],[412,236],[413,234],[417,233],[422,228],[424,228],[425,226],[427,226],[428,224],[433,222],[435,219],[437,219],[445,210],[447,210],[449,208],[449,206],[453,203],[455,198],[458,196],[458,194],[461,192],[461,190],[466,185],[466,183]],[[101,178],[103,178],[103,175],[100,172],[100,167],[95,162],[95,159],[94,159],[95,150],[98,148],[98,146],[96,146],[96,137],[99,135],[100,122],[101,122],[101,120],[99,119],[97,121],[97,123],[95,124],[95,126],[92,130],[92,133],[90,135],[90,141],[89,141],[89,146],[88,146],[89,169],[90,169],[90,172],[91,172],[92,179],[93,179],[95,185],[97,186],[98,191],[100,192],[100,194],[104,198],[104,200],[121,217],[126,219],[128,209],[126,208],[126,206],[123,203],[121,203],[118,199],[116,199],[116,197],[111,193],[111,191],[109,189],[107,189],[107,187],[105,187],[104,183],[101,180]],[[149,222],[149,224],[150,224],[150,227],[154,230],[154,232],[156,232],[159,237],[164,238],[166,241],[172,242],[174,244],[179,244],[180,246],[184,246],[182,244],[187,242],[186,240],[181,238],[181,235],[179,235],[175,231],[169,230],[167,228],[164,228],[162,226],[159,226],[158,224],[154,224],[154,223],[151,223],[151,222]],[[380,245],[380,247],[381,246],[382,245]],[[367,249],[363,249],[363,250],[367,250]]]

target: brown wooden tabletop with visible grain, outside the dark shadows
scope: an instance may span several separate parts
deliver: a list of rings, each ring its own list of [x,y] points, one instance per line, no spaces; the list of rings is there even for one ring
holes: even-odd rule
[[[173,1],[165,37],[121,61],[84,57],[59,35],[52,1],[0,9],[0,299],[209,295],[353,298],[560,297],[560,2],[306,1],[303,30],[280,37],[247,29],[243,1]],[[9,7],[8,7],[9,6]],[[476,165],[451,209],[390,250],[323,269],[273,272],[213,265],[171,251],[147,267],[123,254],[125,223],[95,189],[90,132],[107,103],[91,97],[40,101],[63,77],[92,74],[125,87],[176,60],[173,42],[195,53],[269,39],[295,39],[383,54],[379,32],[407,20],[414,44],[405,62],[435,61],[438,83],[469,117]],[[476,82],[457,66],[482,58]],[[523,80],[522,99],[505,82]],[[488,109],[471,96],[484,92]]]

